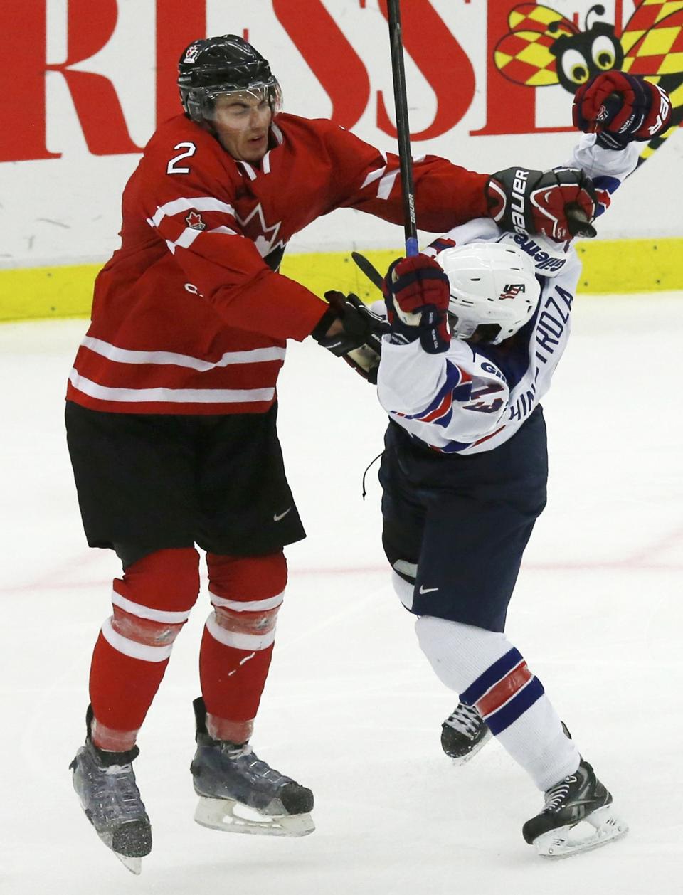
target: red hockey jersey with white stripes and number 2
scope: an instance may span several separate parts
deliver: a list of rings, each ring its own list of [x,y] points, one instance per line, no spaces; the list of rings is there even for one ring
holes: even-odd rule
[[[486,175],[415,163],[417,223],[486,213]],[[149,141],[123,197],[121,248],[99,273],[67,399],[115,413],[262,413],[287,338],[327,305],[276,272],[286,243],[341,207],[402,223],[396,156],[328,120],[281,114],[260,166],[184,115]]]

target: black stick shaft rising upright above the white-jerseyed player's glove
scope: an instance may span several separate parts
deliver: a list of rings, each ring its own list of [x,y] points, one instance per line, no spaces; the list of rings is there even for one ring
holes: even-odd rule
[[[388,32],[391,44],[391,74],[394,79],[394,106],[396,107],[398,132],[398,158],[401,166],[406,255],[410,257],[416,255],[420,250],[417,245],[417,226],[415,224],[413,159],[410,155],[410,126],[408,124],[406,72],[403,64],[400,0],[388,0]]]

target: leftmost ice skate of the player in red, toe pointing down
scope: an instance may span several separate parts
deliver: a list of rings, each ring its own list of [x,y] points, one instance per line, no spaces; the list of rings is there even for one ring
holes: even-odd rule
[[[149,817],[132,770],[138,751],[136,746],[130,752],[103,752],[89,736],[69,765],[85,816],[132,874],[140,874],[142,858],[152,848]]]

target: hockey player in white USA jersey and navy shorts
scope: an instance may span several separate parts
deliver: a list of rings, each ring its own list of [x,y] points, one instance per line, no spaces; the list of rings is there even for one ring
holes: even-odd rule
[[[615,91],[599,75],[576,98],[575,124],[591,133],[569,165],[593,180],[602,210],[636,167],[632,141],[668,121],[659,88],[619,79]],[[510,176],[523,193],[524,169]],[[517,213],[524,217],[523,204]],[[570,242],[519,230],[472,221],[389,268],[391,332],[378,374],[389,416],[383,543],[420,646],[459,695],[444,723],[445,751],[463,761],[495,735],[545,794],[524,825],[526,842],[564,857],[628,827],[505,635],[522,555],[545,506],[540,401],[567,345],[581,270]]]

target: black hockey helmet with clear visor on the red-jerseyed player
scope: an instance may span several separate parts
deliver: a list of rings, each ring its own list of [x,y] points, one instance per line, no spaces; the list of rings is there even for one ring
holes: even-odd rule
[[[282,107],[282,91],[268,60],[235,34],[192,41],[178,62],[178,87],[192,121],[211,120],[217,96],[225,93],[266,97],[273,115]]]

